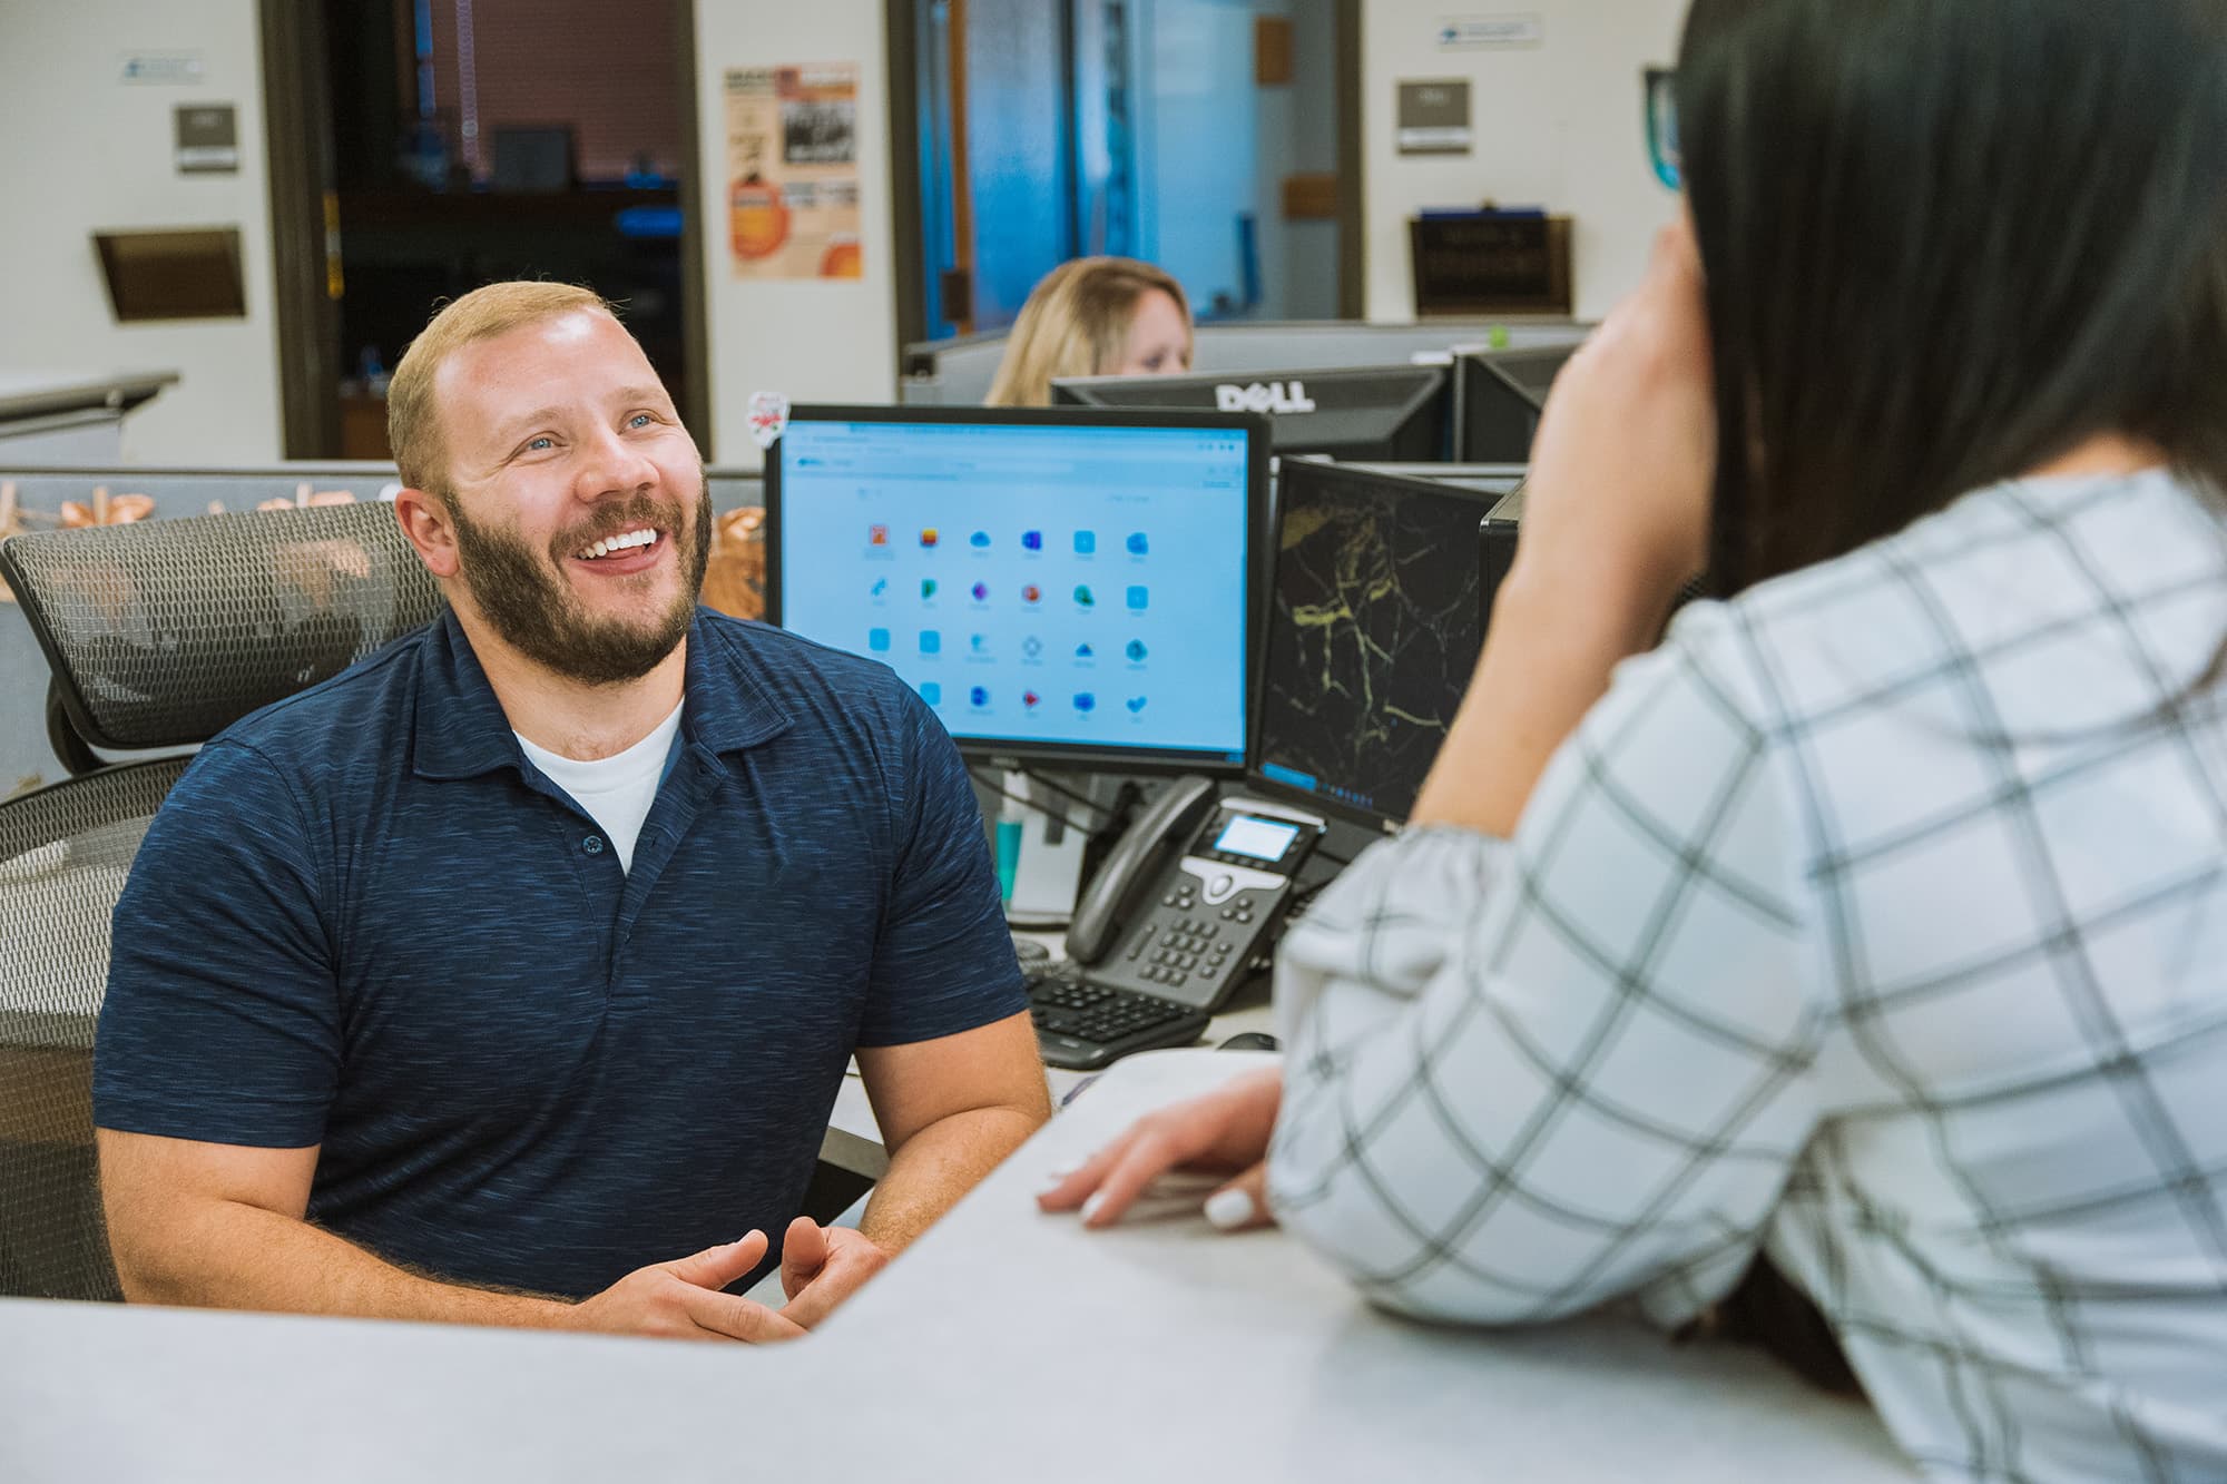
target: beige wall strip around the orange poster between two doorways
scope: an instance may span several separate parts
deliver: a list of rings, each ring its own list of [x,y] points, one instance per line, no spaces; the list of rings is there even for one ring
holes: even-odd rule
[[[755,468],[759,452],[746,421],[750,392],[782,392],[791,401],[893,401],[897,394],[882,0],[697,0],[695,9],[713,443],[719,463]],[[857,62],[864,279],[735,279],[726,216],[724,74],[779,62]]]

